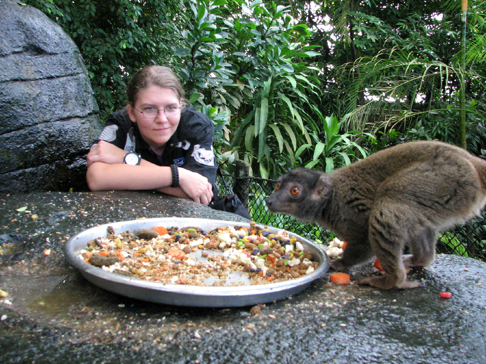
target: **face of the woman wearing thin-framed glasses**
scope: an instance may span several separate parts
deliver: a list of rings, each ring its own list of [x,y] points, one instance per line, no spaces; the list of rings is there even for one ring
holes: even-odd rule
[[[181,117],[180,111],[175,115],[166,116],[160,110],[169,106],[180,107],[180,100],[176,93],[170,88],[163,88],[156,85],[139,91],[135,108],[127,105],[130,120],[137,123],[143,140],[157,153],[165,149],[167,141],[179,125]],[[156,117],[145,117],[140,111],[148,108],[155,108],[160,111]]]

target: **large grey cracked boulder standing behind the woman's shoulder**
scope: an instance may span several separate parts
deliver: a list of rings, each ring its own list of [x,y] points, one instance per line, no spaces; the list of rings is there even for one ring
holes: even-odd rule
[[[101,132],[81,54],[41,11],[0,0],[0,192],[87,190]]]

